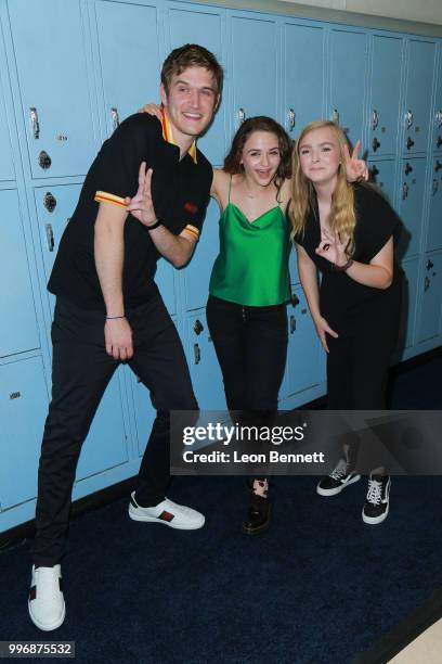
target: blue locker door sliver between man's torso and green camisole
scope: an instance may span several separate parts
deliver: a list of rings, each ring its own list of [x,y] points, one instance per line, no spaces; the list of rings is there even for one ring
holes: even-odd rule
[[[185,307],[187,310],[206,306],[213,263],[219,253],[220,208],[210,201],[203,233],[188,267],[184,270]]]

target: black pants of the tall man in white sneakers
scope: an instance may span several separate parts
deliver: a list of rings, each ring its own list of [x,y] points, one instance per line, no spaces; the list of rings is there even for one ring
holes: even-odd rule
[[[170,410],[197,404],[178,332],[159,295],[127,311],[134,353],[130,368],[150,390],[157,410],[136,483],[143,507],[165,498],[170,481]],[[52,324],[52,401],[38,471],[37,565],[51,566],[65,552],[72,489],[81,445],[103,393],[119,365],[104,345],[104,315],[58,298]]]

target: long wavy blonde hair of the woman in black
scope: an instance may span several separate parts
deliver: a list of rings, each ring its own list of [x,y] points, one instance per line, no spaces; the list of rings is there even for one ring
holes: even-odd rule
[[[348,140],[342,129],[330,120],[315,120],[307,125],[296,141],[292,151],[292,178],[291,178],[291,202],[289,217],[292,224],[292,235],[303,234],[309,209],[314,207],[314,187],[304,176],[299,158],[299,146],[304,137],[315,129],[329,128],[333,130],[340,151],[340,166],[337,173],[337,182],[332,194],[332,208],[328,217],[328,226],[337,233],[349,237],[346,254],[351,257],[354,253],[354,227],[356,216],[354,213],[354,192],[352,186],[347,181],[343,148]]]

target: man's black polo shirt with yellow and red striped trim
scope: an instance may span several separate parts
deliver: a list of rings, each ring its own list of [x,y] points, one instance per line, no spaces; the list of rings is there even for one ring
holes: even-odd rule
[[[94,259],[94,225],[100,201],[123,206],[138,190],[141,162],[153,168],[155,213],[176,235],[188,227],[199,232],[209,201],[212,168],[192,145],[180,161],[180,149],[166,140],[167,124],[146,113],[128,117],[103,143],[81,189],[74,216],[60,242],[48,283],[60,295],[87,309],[103,309],[104,299]],[[125,306],[135,307],[157,293],[154,282],[160,254],[151,233],[128,215],[125,224],[122,294]]]

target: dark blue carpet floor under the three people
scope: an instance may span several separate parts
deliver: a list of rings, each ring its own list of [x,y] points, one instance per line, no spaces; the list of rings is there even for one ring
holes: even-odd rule
[[[441,408],[440,390],[422,403],[441,369],[399,374],[392,406]],[[362,523],[364,481],[329,499],[315,483],[278,477],[256,537],[240,533],[233,477],[174,480],[171,497],[207,515],[194,533],[132,522],[127,499],[75,520],[54,633],[28,620],[31,542],[18,542],[0,552],[0,640],[74,640],[88,664],[350,663],[442,586],[442,478],[394,478],[380,526]]]

